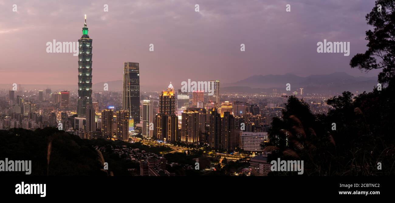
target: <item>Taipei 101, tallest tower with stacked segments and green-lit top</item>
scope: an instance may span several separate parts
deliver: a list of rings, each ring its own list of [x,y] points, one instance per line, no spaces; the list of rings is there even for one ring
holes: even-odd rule
[[[77,115],[85,117],[87,105],[92,105],[92,39],[88,36],[87,15],[82,28],[78,55]]]

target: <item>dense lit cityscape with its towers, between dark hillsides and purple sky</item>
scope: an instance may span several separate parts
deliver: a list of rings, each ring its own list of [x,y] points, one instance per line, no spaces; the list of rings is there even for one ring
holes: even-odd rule
[[[212,161],[195,168],[193,164],[199,158],[194,158],[192,164],[182,165],[188,170],[205,173],[220,169],[228,160],[243,160],[231,175],[267,175],[270,164],[261,145],[268,141],[272,118],[281,117],[286,91],[221,92],[220,81],[215,79],[205,82],[206,86],[199,84],[199,90],[182,90],[181,85],[176,90],[169,82],[162,92],[144,91],[140,90],[139,63],[124,62],[123,69],[114,71],[122,76],[122,91],[108,91],[108,85],[104,85],[102,91],[93,92],[92,41],[85,16],[79,39],[77,90],[28,90],[21,84],[10,84],[12,90],[2,89],[0,130],[53,127],[81,139],[167,147],[155,154],[115,146],[119,156],[126,154],[130,162],[139,163],[139,170],[130,169],[132,175],[175,175],[166,170],[166,165],[180,164],[177,160],[166,162],[162,154],[189,154],[190,150],[204,150]],[[213,91],[207,92],[207,88]],[[326,114],[330,109],[325,101],[332,95],[305,94],[303,88],[288,95],[303,98],[314,113]],[[103,146],[94,147],[105,150]]]

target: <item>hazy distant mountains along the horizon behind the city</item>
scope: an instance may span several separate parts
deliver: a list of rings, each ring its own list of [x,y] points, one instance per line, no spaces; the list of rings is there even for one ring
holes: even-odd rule
[[[94,83],[92,85],[93,91],[102,91],[104,83],[108,84],[108,90],[120,91],[122,90],[122,80],[107,81]],[[377,85],[377,77],[354,77],[347,73],[337,72],[327,75],[310,75],[307,77],[300,77],[292,73],[285,75],[252,75],[246,79],[237,81],[235,83],[221,83],[220,92],[244,92],[244,93],[271,93],[273,88],[277,92],[285,91],[285,85],[291,84],[291,90],[299,91],[303,88],[305,93],[318,93],[318,92],[371,92],[373,86]],[[28,90],[39,88],[45,90],[51,87],[52,90],[77,90],[78,86],[75,85],[29,85],[21,84],[21,86]],[[0,84],[0,88],[6,90],[11,88],[10,84]],[[155,86],[140,86],[140,90],[161,90]]]

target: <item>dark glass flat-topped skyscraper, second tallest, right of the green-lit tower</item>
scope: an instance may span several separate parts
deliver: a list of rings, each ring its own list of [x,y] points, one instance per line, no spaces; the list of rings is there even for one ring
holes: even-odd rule
[[[124,62],[122,109],[129,111],[134,123],[140,123],[139,63]]]

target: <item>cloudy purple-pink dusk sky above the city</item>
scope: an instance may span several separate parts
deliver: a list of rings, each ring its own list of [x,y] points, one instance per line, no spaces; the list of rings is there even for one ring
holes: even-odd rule
[[[260,74],[376,76],[349,66],[366,50],[365,15],[373,6],[373,0],[0,0],[0,83],[77,85],[77,56],[45,49],[53,39],[78,41],[84,14],[93,83],[122,79],[126,61],[140,63],[141,86],[164,88],[170,81],[180,88],[188,79],[231,83]],[[324,39],[350,41],[350,56],[317,53]]]

